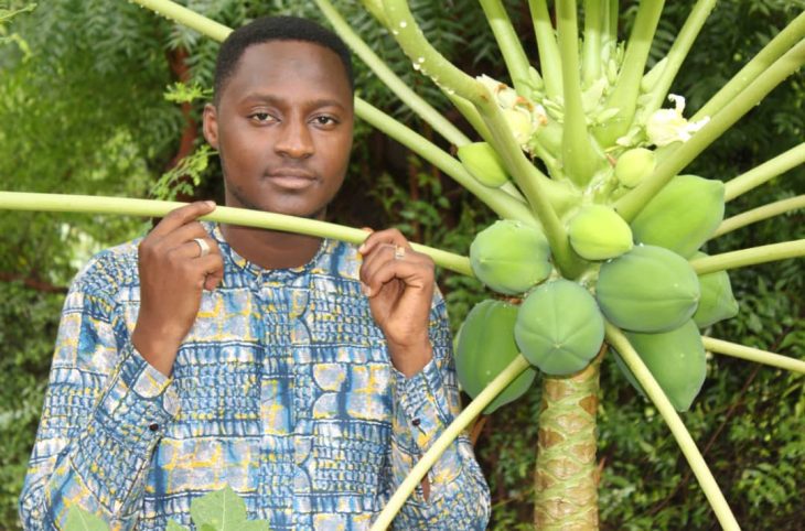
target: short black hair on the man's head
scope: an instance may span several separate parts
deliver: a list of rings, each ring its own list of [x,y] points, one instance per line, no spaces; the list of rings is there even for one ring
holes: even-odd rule
[[[344,65],[350,88],[355,90],[350,50],[339,35],[312,20],[300,17],[260,17],[229,33],[222,43],[215,63],[215,104],[218,102],[226,83],[237,69],[246,48],[253,44],[270,41],[304,41],[332,50]]]

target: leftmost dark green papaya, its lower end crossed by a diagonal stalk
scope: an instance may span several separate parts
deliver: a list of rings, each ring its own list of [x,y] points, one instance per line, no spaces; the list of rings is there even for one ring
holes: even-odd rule
[[[461,388],[473,399],[519,355],[514,342],[517,306],[500,301],[476,304],[464,318],[458,334],[455,372]],[[489,414],[507,404],[532,387],[537,371],[527,368],[490,403]]]

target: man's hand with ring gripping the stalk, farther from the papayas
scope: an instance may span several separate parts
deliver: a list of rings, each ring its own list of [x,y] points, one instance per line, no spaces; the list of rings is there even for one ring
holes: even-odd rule
[[[214,209],[213,202],[197,202],[171,212],[138,249],[140,313],[131,342],[165,376],[195,322],[203,290],[214,290],[224,278],[221,249],[197,221]],[[194,238],[206,241],[207,256]]]

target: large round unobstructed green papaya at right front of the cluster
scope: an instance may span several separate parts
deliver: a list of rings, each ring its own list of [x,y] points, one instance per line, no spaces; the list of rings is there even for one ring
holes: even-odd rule
[[[687,260],[656,246],[636,246],[604,262],[595,299],[607,318],[631,332],[666,332],[689,319],[699,280]]]

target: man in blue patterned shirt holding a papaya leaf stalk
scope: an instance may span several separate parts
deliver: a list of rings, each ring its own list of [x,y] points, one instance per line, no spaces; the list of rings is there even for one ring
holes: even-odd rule
[[[226,204],[321,219],[347,169],[350,55],[301,19],[222,45],[204,134]],[[459,408],[433,263],[396,230],[358,248],[198,221],[194,203],[97,256],[65,303],[21,496],[26,529],[82,507],[115,529],[190,523],[232,486],[271,530],[368,529]],[[483,529],[465,437],[395,528]]]

